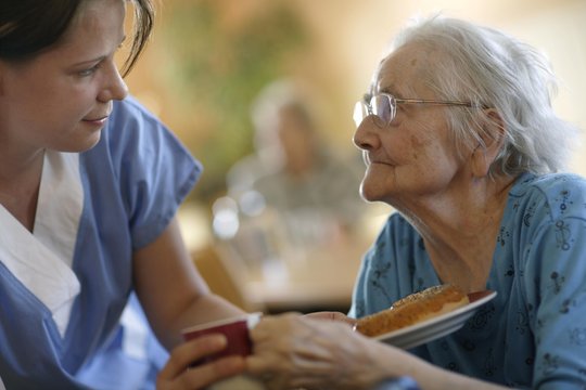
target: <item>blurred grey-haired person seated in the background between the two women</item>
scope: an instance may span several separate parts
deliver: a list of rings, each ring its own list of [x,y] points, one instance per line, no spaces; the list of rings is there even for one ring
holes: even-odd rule
[[[227,177],[232,197],[260,195],[288,226],[289,239],[301,245],[352,233],[366,207],[359,161],[330,147],[306,98],[292,80],[268,84],[252,108],[256,153]]]

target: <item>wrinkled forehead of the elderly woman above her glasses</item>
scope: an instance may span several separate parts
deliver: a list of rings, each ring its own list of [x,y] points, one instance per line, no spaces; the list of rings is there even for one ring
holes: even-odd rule
[[[433,56],[434,53],[421,44],[407,44],[394,50],[380,62],[369,93],[385,92],[397,98],[423,93]]]

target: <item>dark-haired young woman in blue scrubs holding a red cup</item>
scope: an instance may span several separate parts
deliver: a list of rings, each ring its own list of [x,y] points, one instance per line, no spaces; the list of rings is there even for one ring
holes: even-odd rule
[[[180,330],[241,311],[209,292],[176,222],[200,164],[127,96],[130,4],[128,70],[149,0],[0,5],[0,388],[200,389],[244,368],[187,369],[226,339]]]

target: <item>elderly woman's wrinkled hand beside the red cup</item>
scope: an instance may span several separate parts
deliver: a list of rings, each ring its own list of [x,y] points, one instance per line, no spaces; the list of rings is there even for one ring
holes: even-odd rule
[[[387,376],[380,343],[354,333],[352,320],[331,318],[266,316],[251,332],[249,372],[269,389],[368,389]]]

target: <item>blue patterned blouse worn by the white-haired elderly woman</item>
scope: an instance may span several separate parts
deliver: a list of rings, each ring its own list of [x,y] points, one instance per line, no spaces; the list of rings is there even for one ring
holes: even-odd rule
[[[416,230],[392,214],[367,252],[349,315],[440,284]],[[509,193],[487,289],[497,297],[412,353],[517,388],[586,388],[586,180],[523,174]],[[392,363],[390,363],[392,364]]]

